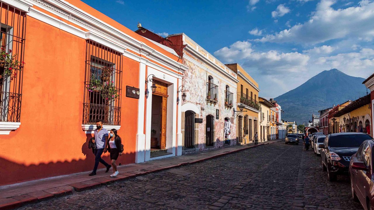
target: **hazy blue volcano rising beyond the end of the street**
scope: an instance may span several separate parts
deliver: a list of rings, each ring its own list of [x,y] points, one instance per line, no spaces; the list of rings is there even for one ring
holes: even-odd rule
[[[354,101],[366,94],[364,78],[352,77],[337,69],[322,71],[304,84],[274,100],[282,106],[282,119],[302,124],[312,120],[312,114],[333,104]]]

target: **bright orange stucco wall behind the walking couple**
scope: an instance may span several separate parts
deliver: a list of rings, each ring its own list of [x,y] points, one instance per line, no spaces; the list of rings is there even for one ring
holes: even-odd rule
[[[94,156],[81,128],[86,41],[27,17],[21,126],[0,136],[0,185],[92,170]],[[139,63],[123,58],[121,128],[125,148],[118,163],[135,161]],[[104,155],[108,163],[109,154]],[[99,167],[102,167],[100,164]]]

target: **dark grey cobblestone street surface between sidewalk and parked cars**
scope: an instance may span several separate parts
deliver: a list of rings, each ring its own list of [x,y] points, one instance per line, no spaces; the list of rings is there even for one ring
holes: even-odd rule
[[[24,209],[362,209],[347,177],[328,182],[320,157],[276,142],[115,182]],[[109,174],[108,174],[109,175]]]

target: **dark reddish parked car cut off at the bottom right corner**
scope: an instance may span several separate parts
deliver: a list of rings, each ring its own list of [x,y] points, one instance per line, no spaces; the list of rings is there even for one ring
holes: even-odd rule
[[[373,146],[373,139],[365,140],[349,164],[352,198],[360,201],[365,210],[374,209]]]

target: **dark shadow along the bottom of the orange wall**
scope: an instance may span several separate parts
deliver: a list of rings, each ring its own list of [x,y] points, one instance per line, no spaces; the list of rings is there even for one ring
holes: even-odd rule
[[[49,162],[40,164],[31,164],[26,166],[24,164],[14,163],[0,157],[0,185],[8,185],[18,182],[25,182],[35,179],[42,179],[52,176],[67,175],[71,173],[85,172],[93,169],[95,164],[95,155],[92,149],[88,148],[88,141],[92,138],[91,134],[86,135],[86,142],[82,145],[82,153],[86,156],[85,159],[64,161],[64,162]],[[57,148],[58,149],[58,148]],[[16,154],[15,154],[16,155]],[[109,152],[101,156],[105,162],[110,164]],[[62,157],[63,158],[63,157]],[[116,163],[119,165],[130,164],[135,162],[135,153],[125,153],[118,157]],[[104,168],[103,164],[99,164],[99,169]]]

